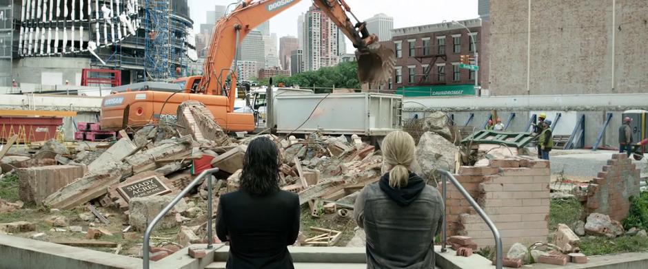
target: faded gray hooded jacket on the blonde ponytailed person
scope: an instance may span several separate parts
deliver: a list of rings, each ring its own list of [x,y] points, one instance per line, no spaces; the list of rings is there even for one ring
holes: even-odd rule
[[[414,180],[421,177],[410,173],[408,186]],[[387,191],[392,197],[399,192]],[[434,268],[434,236],[443,225],[441,193],[425,185],[418,197],[409,197],[408,204],[389,195],[376,182],[356,198],[354,217],[367,234],[367,268]]]

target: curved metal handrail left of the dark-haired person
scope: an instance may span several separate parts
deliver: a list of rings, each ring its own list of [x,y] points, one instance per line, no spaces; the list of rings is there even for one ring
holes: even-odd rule
[[[185,197],[185,195],[191,190],[194,189],[194,186],[200,182],[205,175],[212,175],[213,173],[218,172],[218,168],[212,168],[212,169],[207,169],[200,173],[192,181],[189,186],[187,186],[185,189],[181,191],[173,200],[164,208],[162,211],[156,215],[153,220],[151,221],[150,224],[146,227],[146,230],[144,232],[144,243],[143,243],[143,248],[142,248],[142,259],[143,259],[143,268],[144,269],[149,269],[150,266],[150,261],[149,261],[149,244],[150,244],[150,238],[151,238],[151,232],[153,231],[153,228],[155,225],[168,213],[173,206],[175,206],[180,200]],[[212,249],[212,179],[210,178],[207,180],[207,249]]]

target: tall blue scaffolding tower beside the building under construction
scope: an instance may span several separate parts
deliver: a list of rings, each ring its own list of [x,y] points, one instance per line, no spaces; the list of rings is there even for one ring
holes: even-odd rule
[[[160,81],[172,77],[171,10],[168,0],[145,0],[144,70],[145,80]]]

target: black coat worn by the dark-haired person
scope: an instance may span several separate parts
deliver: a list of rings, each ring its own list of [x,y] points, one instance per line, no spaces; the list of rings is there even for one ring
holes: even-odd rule
[[[287,191],[265,196],[245,191],[222,195],[216,235],[230,241],[227,268],[294,268],[287,246],[297,239],[299,214],[299,197]]]

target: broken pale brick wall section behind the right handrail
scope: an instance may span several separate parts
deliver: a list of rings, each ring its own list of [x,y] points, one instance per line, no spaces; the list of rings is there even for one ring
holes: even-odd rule
[[[533,158],[490,160],[462,166],[456,179],[492,219],[505,249],[516,242],[546,241],[549,229],[549,162]],[[454,186],[447,190],[448,235],[467,235],[494,246],[492,232]]]

